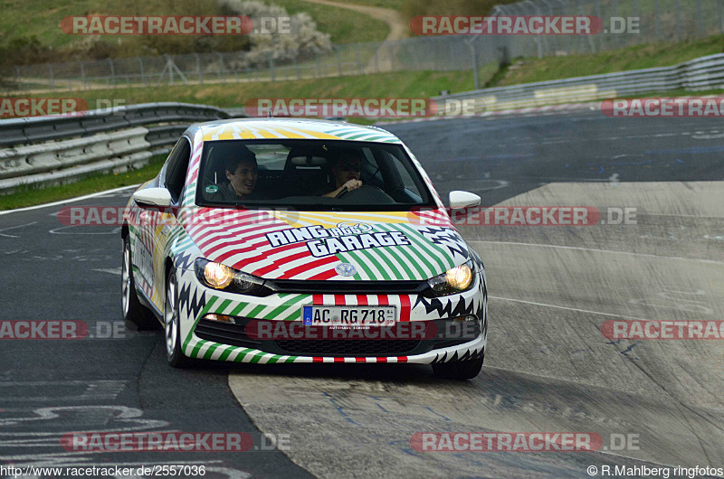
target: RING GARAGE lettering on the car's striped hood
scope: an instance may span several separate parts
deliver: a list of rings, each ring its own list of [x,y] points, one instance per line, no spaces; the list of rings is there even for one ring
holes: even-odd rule
[[[406,246],[410,244],[410,240],[402,231],[366,232],[371,230],[373,230],[373,227],[367,224],[329,229],[315,225],[273,231],[267,233],[266,238],[272,248],[306,241],[307,248],[315,258],[357,249]]]

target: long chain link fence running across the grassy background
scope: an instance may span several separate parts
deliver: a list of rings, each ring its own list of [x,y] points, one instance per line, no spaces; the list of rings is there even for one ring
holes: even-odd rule
[[[494,15],[595,15],[596,35],[450,35],[335,45],[291,61],[259,52],[195,53],[17,66],[0,72],[5,94],[157,85],[309,80],[364,73],[473,70],[476,89],[501,61],[602,52],[651,42],[681,42],[724,33],[724,0],[526,0]],[[618,32],[629,18],[638,30]],[[623,19],[623,20],[622,20]],[[622,23],[623,22],[623,23]]]

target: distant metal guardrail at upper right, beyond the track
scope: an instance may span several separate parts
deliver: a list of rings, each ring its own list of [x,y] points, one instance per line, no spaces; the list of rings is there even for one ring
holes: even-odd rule
[[[475,113],[513,108],[542,107],[596,99],[613,99],[672,89],[724,88],[724,53],[686,61],[680,65],[622,71],[565,80],[538,81],[511,87],[477,89],[435,98],[475,99]]]

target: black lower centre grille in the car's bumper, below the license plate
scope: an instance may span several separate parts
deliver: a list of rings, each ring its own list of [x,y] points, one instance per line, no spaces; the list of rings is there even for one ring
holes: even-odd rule
[[[307,356],[395,356],[414,351],[420,340],[278,340],[276,345],[287,354]]]

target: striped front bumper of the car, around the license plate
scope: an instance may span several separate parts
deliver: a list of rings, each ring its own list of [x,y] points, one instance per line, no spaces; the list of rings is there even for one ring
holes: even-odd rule
[[[191,273],[193,275],[193,272]],[[481,273],[477,284],[463,293],[439,298],[417,295],[314,295],[285,294],[242,296],[207,288],[183,274],[188,281],[179,297],[182,350],[191,358],[226,362],[407,362],[430,364],[480,357],[487,342],[487,296]],[[450,318],[472,315],[479,320],[475,334],[465,339],[360,339],[250,341],[243,322],[301,321],[303,305],[394,305],[398,321],[444,324]],[[231,315],[240,324],[205,319],[206,315]]]

